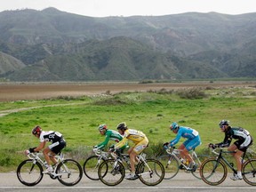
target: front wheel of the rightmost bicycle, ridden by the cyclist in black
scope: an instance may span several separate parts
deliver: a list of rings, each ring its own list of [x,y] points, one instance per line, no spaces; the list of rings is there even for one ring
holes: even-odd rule
[[[228,174],[227,166],[221,160],[218,162],[215,157],[206,159],[200,168],[201,179],[208,185],[220,185],[226,180]]]

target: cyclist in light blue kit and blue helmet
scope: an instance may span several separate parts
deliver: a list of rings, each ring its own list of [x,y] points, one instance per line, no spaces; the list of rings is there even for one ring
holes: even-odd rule
[[[184,159],[187,159],[189,169],[196,170],[196,162],[194,162],[193,158],[188,153],[190,150],[195,149],[197,146],[201,145],[201,139],[199,136],[199,133],[195,129],[191,129],[190,127],[185,126],[179,126],[176,122],[173,122],[170,125],[170,129],[172,132],[174,132],[176,135],[175,139],[171,140],[168,144],[170,147],[173,147],[176,145],[180,138],[186,138],[180,147],[178,148],[180,150],[180,156]],[[164,143],[164,146],[166,143]],[[182,169],[183,166],[180,165],[180,169]]]

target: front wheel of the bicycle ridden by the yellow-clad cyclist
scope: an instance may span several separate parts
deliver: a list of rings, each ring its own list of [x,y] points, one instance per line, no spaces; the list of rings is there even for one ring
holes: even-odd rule
[[[116,186],[124,180],[124,165],[115,159],[102,162],[98,169],[99,178],[107,186]]]

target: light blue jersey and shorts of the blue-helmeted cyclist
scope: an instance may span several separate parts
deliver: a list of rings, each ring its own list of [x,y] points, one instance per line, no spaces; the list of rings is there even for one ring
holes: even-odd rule
[[[188,151],[196,148],[198,145],[201,144],[199,133],[196,132],[196,130],[191,129],[190,127],[180,126],[175,139],[170,141],[170,146],[172,147],[177,144],[181,137],[188,139],[183,142],[185,148],[187,148]]]

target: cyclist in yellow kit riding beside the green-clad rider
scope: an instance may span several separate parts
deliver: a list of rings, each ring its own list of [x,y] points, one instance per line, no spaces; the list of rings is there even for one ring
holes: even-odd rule
[[[125,179],[135,180],[138,178],[138,176],[135,175],[136,156],[148,147],[148,138],[143,132],[128,129],[127,125],[124,122],[118,124],[116,128],[120,134],[124,135],[124,139],[116,143],[116,145],[114,146],[115,150],[123,148],[128,140],[131,140],[134,143],[134,146],[128,149],[131,163],[131,172],[125,176]]]

